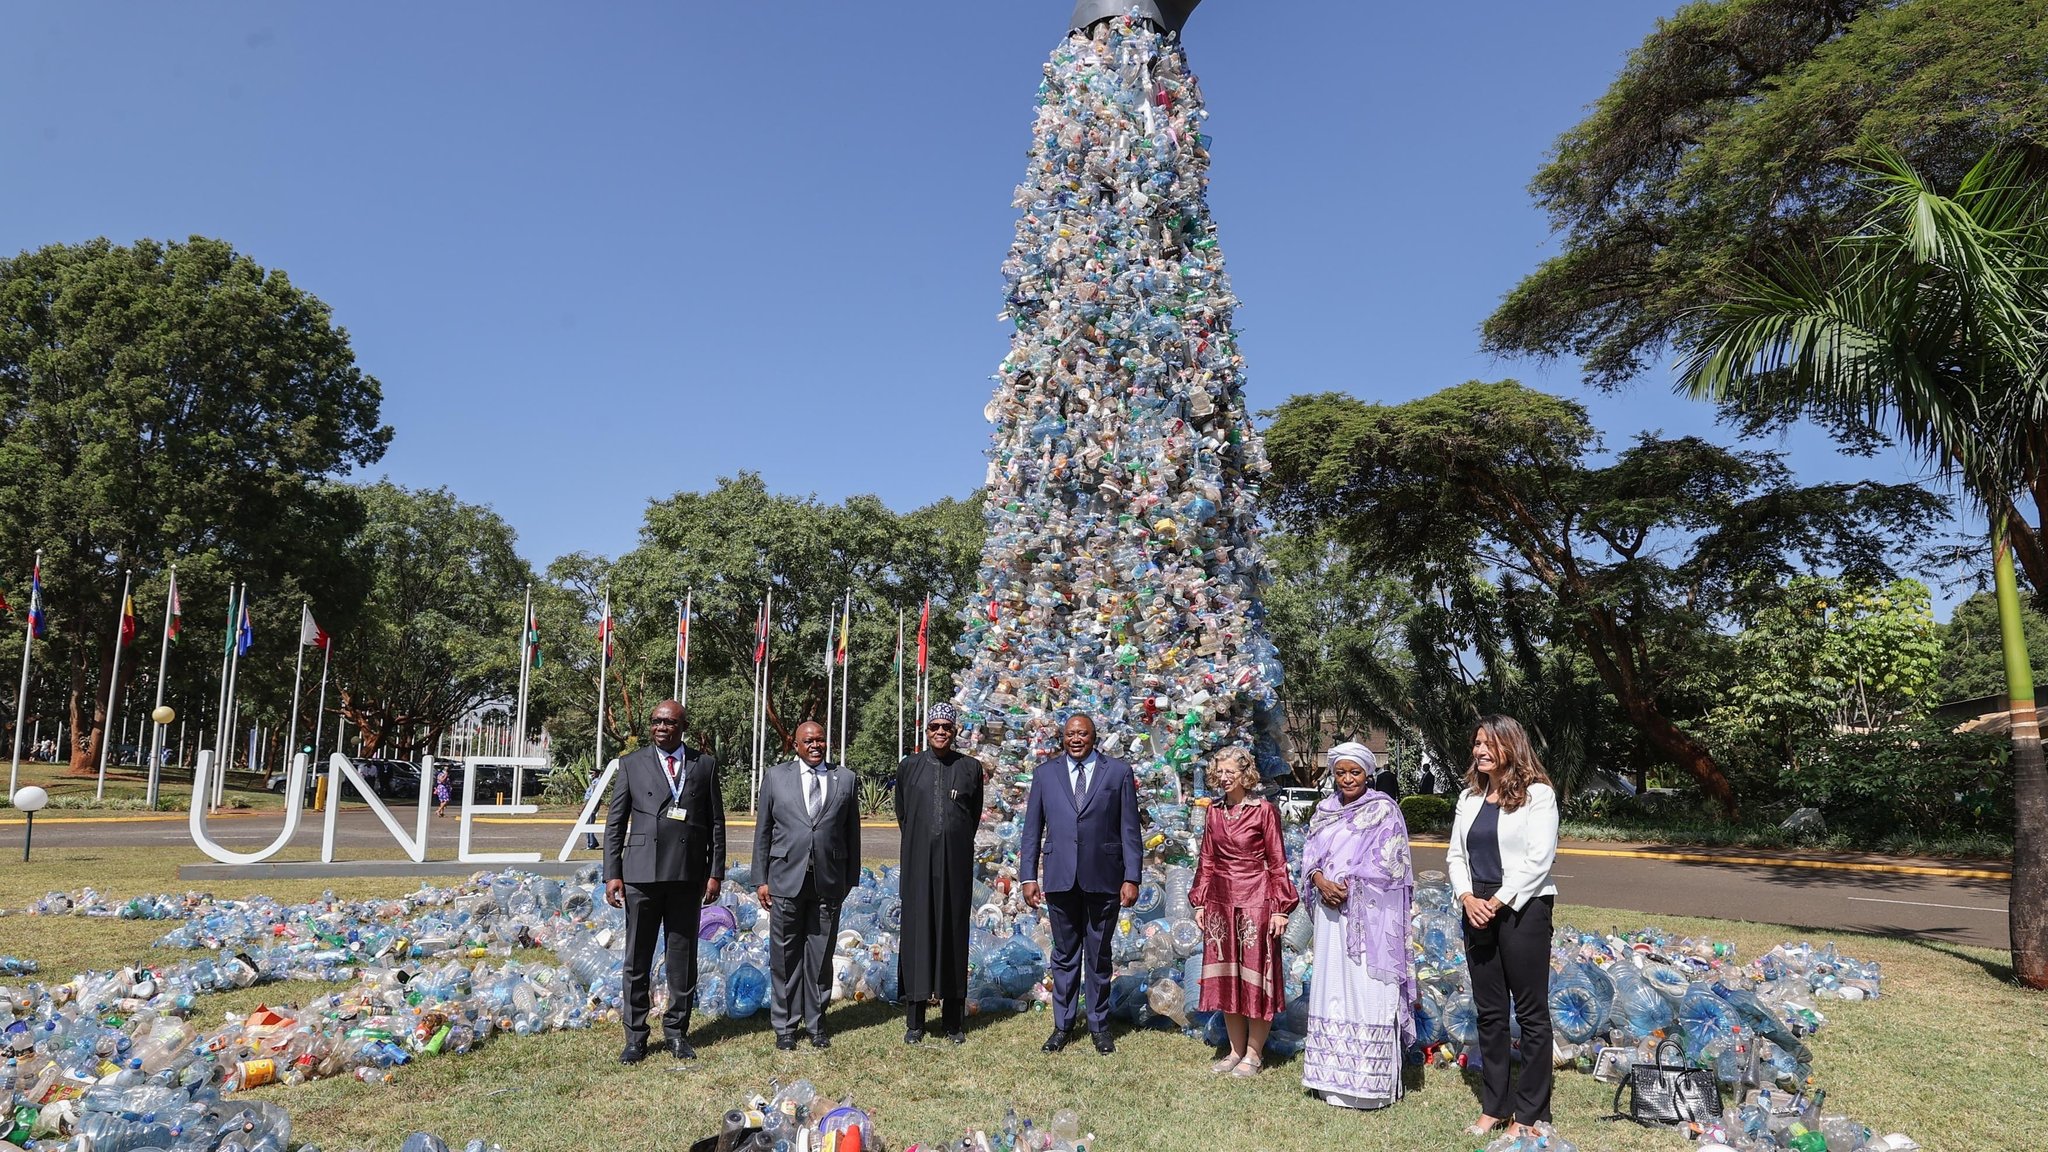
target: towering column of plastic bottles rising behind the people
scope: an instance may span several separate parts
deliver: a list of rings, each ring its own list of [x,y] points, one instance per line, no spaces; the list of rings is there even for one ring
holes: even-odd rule
[[[1151,799],[1186,801],[1184,771],[1225,744],[1282,771],[1257,603],[1268,463],[1204,193],[1206,115],[1180,41],[1128,18],[1063,41],[1038,86],[956,693],[961,744],[1006,812],[1071,711],[1098,717]]]

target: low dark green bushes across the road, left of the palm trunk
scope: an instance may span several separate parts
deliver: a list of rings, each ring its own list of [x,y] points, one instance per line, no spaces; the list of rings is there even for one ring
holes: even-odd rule
[[[1780,777],[1786,799],[1829,824],[1884,838],[1896,832],[2013,834],[2011,742],[1958,734],[1939,722],[1851,732],[1808,744]]]

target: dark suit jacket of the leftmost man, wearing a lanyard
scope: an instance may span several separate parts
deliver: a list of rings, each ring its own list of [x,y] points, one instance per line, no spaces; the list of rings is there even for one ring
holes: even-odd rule
[[[612,801],[604,814],[604,879],[627,883],[725,879],[725,795],[719,760],[684,744],[682,808],[688,820],[668,820],[668,773],[653,744],[618,758]]]

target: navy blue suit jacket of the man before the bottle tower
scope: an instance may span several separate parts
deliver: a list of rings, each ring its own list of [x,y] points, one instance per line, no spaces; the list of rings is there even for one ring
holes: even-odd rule
[[[1044,875],[1038,873],[1040,842]],[[1139,881],[1143,857],[1130,765],[1096,752],[1096,773],[1087,795],[1079,797],[1065,752],[1032,769],[1018,879],[1036,879],[1047,892],[1116,892]]]

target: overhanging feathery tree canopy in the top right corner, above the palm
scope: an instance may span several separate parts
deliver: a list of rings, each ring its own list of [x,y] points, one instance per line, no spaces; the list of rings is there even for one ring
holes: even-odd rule
[[[2030,0],[1686,4],[1536,172],[1563,250],[1507,293],[1485,344],[1628,381],[1726,291],[1726,269],[1858,228],[1866,135],[1944,182],[1993,143],[2040,148],[2044,72],[2048,20]]]

